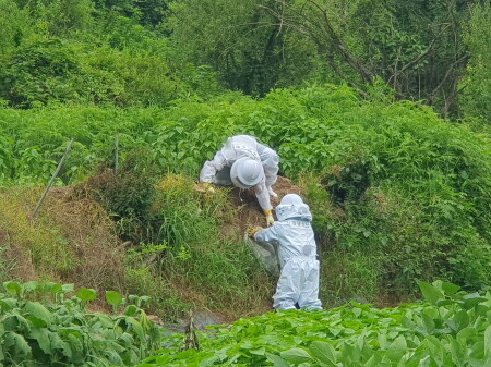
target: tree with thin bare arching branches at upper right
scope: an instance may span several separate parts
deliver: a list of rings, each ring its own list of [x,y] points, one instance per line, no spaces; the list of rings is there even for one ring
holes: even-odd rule
[[[309,38],[324,62],[363,90],[383,78],[399,98],[455,109],[468,54],[464,0],[276,0],[267,7],[285,27]]]

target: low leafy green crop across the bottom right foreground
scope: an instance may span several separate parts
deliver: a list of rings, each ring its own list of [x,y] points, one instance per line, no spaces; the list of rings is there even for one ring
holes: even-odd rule
[[[279,311],[202,333],[201,350],[170,350],[151,366],[486,366],[491,362],[491,294],[442,281],[420,283],[426,303],[373,308],[351,302],[326,311]]]

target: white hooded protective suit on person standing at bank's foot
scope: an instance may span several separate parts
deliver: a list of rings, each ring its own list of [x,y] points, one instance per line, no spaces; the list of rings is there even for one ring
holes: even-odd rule
[[[276,207],[278,221],[254,234],[258,242],[278,245],[282,272],[273,296],[275,309],[322,309],[319,299],[319,260],[309,206],[288,194]]]

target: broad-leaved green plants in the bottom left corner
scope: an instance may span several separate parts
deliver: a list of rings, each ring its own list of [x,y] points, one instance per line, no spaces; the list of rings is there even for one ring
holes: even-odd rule
[[[5,365],[133,366],[152,353],[158,341],[156,326],[141,308],[142,298],[120,315],[87,311],[94,290],[53,282],[4,282],[0,295],[0,362]],[[41,304],[37,299],[48,297]],[[106,298],[113,307],[124,303],[118,292]]]

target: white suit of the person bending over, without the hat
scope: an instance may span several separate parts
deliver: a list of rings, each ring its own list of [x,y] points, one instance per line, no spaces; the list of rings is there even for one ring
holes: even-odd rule
[[[258,143],[250,135],[229,137],[213,160],[204,163],[200,173],[200,182],[224,186],[233,185],[230,180],[230,167],[242,157],[261,161],[264,169],[264,179],[254,186],[254,192],[261,208],[264,211],[272,210],[270,194],[276,196],[271,186],[277,179],[279,157],[276,151]]]

